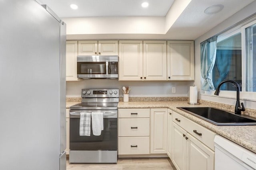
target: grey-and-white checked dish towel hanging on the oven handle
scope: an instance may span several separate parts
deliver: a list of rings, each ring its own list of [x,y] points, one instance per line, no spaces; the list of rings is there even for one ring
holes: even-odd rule
[[[91,135],[91,113],[80,113],[80,136]]]

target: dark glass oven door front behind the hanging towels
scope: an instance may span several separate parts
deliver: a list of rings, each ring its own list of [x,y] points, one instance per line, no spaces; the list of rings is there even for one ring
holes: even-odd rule
[[[117,118],[104,118],[100,136],[80,136],[80,118],[70,118],[70,150],[117,150]]]

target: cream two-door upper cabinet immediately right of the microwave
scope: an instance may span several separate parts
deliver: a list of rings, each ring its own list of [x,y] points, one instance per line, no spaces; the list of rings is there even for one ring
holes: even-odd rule
[[[166,80],[166,61],[166,41],[119,41],[119,80]]]

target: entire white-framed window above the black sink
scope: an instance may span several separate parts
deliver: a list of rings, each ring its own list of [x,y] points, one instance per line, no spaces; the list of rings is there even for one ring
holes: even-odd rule
[[[252,19],[250,21],[244,21],[240,25],[236,25],[236,27],[217,36],[216,51],[214,53],[215,59],[211,60],[214,66],[209,74],[215,89],[223,80],[234,80],[240,84],[240,91],[256,92],[255,18],[254,21]],[[204,55],[202,51],[201,46],[201,59],[202,55]],[[203,70],[202,68],[201,72]],[[208,66],[208,68],[210,67]],[[208,84],[211,83],[208,82]],[[213,89],[213,87],[210,88]],[[231,83],[225,83],[221,86],[220,90],[235,91],[236,88]]]

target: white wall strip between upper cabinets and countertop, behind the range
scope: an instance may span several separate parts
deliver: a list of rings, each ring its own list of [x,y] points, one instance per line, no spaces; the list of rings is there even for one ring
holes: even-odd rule
[[[82,88],[118,88],[122,86],[131,86],[131,97],[184,97],[188,96],[189,86],[193,82],[119,82],[118,80],[83,80],[81,82],[66,82],[66,97],[81,97]],[[172,93],[172,87],[176,87],[176,93]],[[120,95],[122,92],[120,91]]]

